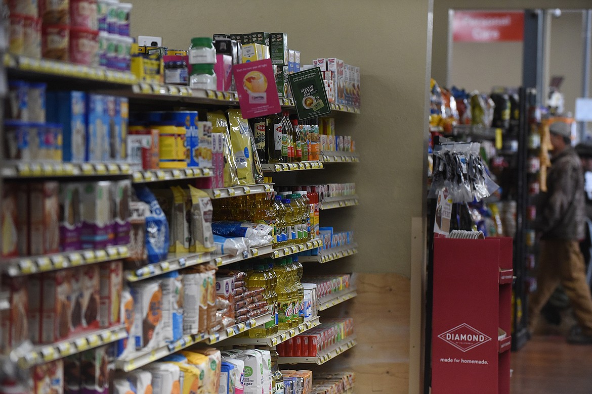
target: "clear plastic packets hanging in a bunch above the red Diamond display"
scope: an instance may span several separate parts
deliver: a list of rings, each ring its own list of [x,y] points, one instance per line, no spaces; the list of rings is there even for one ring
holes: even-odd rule
[[[490,178],[478,143],[443,143],[434,148],[432,187],[429,198],[448,190],[453,203],[481,201],[499,186]]]

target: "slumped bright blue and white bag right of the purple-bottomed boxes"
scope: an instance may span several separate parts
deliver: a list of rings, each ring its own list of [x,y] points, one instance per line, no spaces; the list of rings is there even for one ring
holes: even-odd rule
[[[152,191],[146,186],[134,188],[136,196],[150,206],[150,215],[146,217],[148,262],[157,263],[163,261],[169,252],[169,223]]]

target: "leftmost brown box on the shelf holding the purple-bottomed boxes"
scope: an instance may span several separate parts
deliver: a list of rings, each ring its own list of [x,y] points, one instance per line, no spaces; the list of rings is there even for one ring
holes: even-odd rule
[[[18,191],[5,184],[2,190],[2,258],[18,256]]]

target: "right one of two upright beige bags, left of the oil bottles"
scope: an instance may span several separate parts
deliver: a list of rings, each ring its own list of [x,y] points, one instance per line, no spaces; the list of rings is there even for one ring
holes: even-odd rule
[[[215,250],[212,233],[212,200],[205,191],[189,185],[191,196],[191,252],[213,252]]]

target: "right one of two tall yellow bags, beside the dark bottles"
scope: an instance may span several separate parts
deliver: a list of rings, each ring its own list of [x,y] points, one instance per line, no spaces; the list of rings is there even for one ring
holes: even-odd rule
[[[229,109],[226,114],[239,185],[252,185],[255,183],[255,178],[253,178],[253,147],[250,141],[252,132],[249,129],[249,122],[240,116],[239,109]]]

